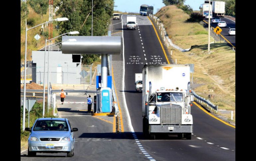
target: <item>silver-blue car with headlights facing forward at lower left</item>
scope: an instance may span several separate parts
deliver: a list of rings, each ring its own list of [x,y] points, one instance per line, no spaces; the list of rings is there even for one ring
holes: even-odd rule
[[[67,157],[74,155],[73,135],[77,128],[71,128],[65,118],[39,118],[34,125],[25,128],[30,131],[28,139],[28,156],[36,153],[67,153]]]

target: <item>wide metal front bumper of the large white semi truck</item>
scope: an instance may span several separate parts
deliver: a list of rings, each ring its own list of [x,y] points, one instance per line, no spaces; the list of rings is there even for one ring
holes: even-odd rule
[[[149,132],[190,133],[193,125],[149,125]]]

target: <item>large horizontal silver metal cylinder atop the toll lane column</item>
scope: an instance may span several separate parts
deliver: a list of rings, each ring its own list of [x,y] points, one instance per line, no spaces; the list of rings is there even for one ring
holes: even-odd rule
[[[63,36],[64,54],[121,54],[121,37]]]

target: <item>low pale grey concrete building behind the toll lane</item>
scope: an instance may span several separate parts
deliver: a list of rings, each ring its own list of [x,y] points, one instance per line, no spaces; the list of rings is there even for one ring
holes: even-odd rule
[[[52,84],[81,84],[81,54],[63,54],[50,51],[50,82]],[[32,51],[32,82],[44,83],[45,51]],[[46,51],[46,76],[48,76],[48,51]]]

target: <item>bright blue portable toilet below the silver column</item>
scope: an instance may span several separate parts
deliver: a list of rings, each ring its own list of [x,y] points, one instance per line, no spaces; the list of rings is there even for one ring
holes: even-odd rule
[[[100,105],[102,112],[112,112],[112,93],[109,87],[104,87],[100,89]]]

